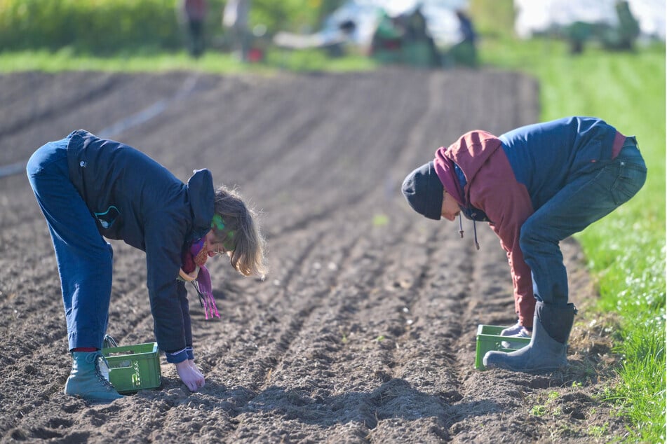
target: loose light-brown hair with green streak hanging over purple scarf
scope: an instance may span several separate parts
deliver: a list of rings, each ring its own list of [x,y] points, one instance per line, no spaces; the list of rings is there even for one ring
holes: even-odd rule
[[[219,214],[229,230],[234,230],[236,246],[231,254],[230,263],[244,276],[264,275],[269,271],[264,264],[266,241],[257,225],[257,214],[248,208],[235,190],[220,186],[215,190],[215,214]],[[227,232],[220,232],[215,226],[213,233],[216,240],[224,242]]]

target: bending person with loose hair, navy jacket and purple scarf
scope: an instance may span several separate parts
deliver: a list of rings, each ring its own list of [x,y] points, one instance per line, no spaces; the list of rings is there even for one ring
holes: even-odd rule
[[[65,394],[95,402],[121,398],[105,377],[100,352],[114,256],[105,237],[146,253],[158,346],[189,390],[203,387],[185,284],[194,286],[209,319],[220,315],[208,258],[224,254],[242,275],[264,275],[264,240],[255,213],[233,191],[214,189],[208,169],[196,170],[183,183],[135,148],[85,130],[41,146],[27,163],[27,175],[58,262],[73,359]]]

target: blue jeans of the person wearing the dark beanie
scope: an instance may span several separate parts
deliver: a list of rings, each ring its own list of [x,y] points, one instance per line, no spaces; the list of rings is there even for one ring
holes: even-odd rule
[[[520,247],[532,271],[535,298],[567,303],[567,274],[558,244],[630,200],[646,181],[646,165],[635,137],[614,160],[576,176],[521,226]]]

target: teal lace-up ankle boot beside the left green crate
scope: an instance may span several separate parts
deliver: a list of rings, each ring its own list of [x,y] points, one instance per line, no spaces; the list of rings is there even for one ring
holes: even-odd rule
[[[100,371],[100,352],[72,352],[72,372],[65,382],[65,394],[81,396],[86,401],[109,402],[122,398]]]

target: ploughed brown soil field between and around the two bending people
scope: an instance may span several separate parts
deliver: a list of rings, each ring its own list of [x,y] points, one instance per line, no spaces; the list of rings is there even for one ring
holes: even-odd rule
[[[271,272],[211,272],[222,319],[191,303],[206,387],[162,359],[161,389],[109,405],[65,396],[70,358],[46,223],[25,174],[0,178],[2,442],[606,442],[614,357],[580,310],[563,372],[475,370],[478,324],[513,324],[504,252],[485,224],[414,213],[407,172],[476,128],[538,117],[537,85],[492,71],[217,77],[0,76],[0,166],[85,128],[186,180],[208,167],[262,211]],[[128,118],[130,118],[128,120]],[[144,254],[114,244],[109,333],[153,340]],[[574,241],[572,300],[595,298]],[[192,295],[191,295],[192,297]],[[194,299],[196,301],[196,298]]]

